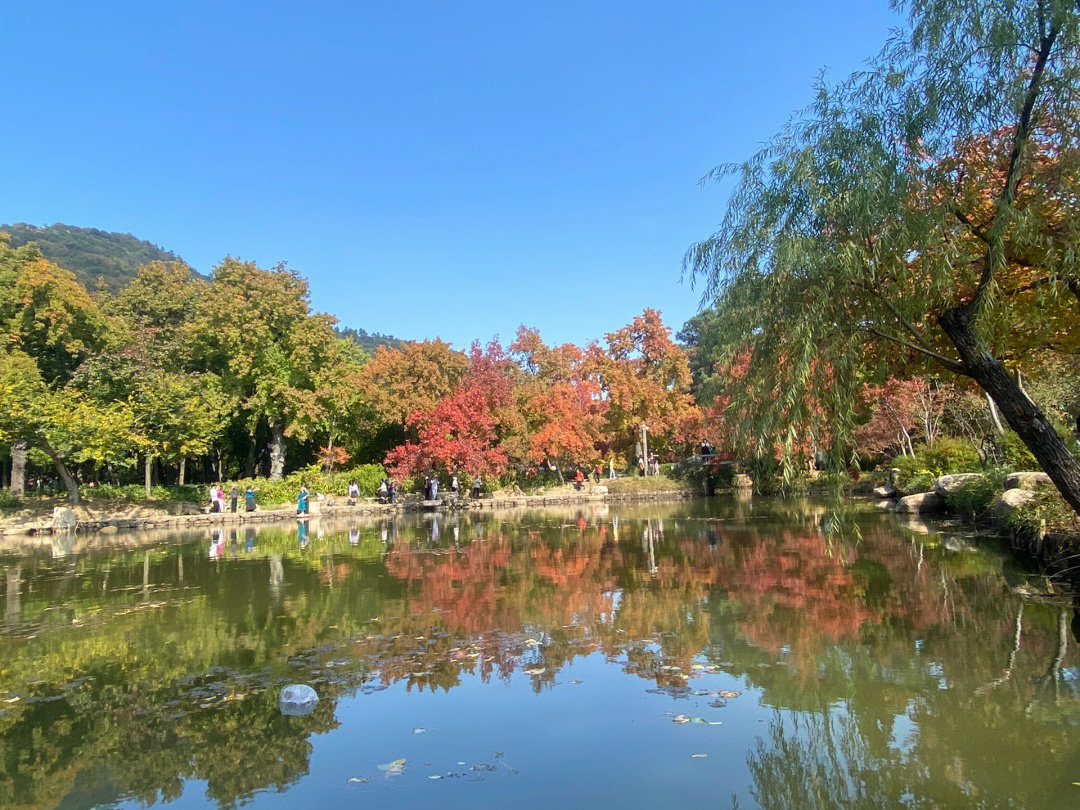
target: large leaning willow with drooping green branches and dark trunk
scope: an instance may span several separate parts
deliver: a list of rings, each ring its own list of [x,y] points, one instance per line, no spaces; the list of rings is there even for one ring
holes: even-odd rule
[[[752,350],[759,442],[845,446],[860,375],[918,359],[982,387],[1080,512],[1080,464],[1016,376],[1080,341],[1080,3],[896,5],[868,70],[715,170],[735,188],[686,266],[727,355]]]

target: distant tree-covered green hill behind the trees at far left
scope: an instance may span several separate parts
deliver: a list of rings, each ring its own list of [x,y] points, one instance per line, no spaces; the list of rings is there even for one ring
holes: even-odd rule
[[[11,234],[12,247],[36,242],[45,258],[70,270],[87,289],[100,279],[107,289],[119,289],[150,261],[176,261],[180,257],[131,233],[110,233],[96,228],[76,228],[57,222],[38,228],[25,222],[0,226]]]

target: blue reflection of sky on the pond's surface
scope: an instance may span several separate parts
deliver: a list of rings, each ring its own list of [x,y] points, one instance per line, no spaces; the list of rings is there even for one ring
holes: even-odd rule
[[[745,752],[773,716],[754,696],[708,708],[707,698],[672,700],[645,692],[602,653],[575,660],[553,688],[535,692],[515,673],[509,683],[462,679],[449,692],[409,692],[401,683],[339,701],[340,726],[311,739],[310,769],[287,793],[266,792],[259,808],[713,808],[731,794],[754,807]],[[580,684],[571,684],[580,680]],[[693,681],[740,688],[727,675]],[[672,714],[720,719],[721,726],[677,725]],[[413,733],[424,728],[422,734]],[[502,752],[501,758],[495,752]],[[692,754],[706,754],[692,758]],[[408,760],[401,777],[377,766]],[[464,767],[457,765],[464,761]],[[424,766],[430,762],[430,766]],[[475,772],[473,765],[497,766]],[[517,773],[512,773],[511,768]],[[460,779],[428,779],[464,772]],[[475,775],[483,781],[472,781]],[[370,779],[350,783],[351,777]],[[205,806],[201,783],[188,783],[170,808]],[[121,805],[138,808],[136,802]]]

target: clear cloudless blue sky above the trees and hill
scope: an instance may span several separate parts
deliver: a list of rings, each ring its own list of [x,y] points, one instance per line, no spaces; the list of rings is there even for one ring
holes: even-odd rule
[[[406,338],[585,341],[698,295],[712,166],[860,68],[886,0],[32,2],[0,21],[0,221],[285,260]]]

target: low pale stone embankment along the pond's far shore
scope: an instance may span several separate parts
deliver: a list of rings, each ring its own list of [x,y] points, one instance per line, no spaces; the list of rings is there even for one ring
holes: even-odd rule
[[[374,499],[349,501],[346,498],[312,500],[309,517],[342,518],[353,516],[394,515],[402,512],[457,512],[494,511],[531,507],[573,503],[639,503],[644,501],[676,501],[698,498],[689,489],[664,489],[627,492],[609,492],[604,486],[590,485],[581,491],[544,495],[507,495],[498,492],[483,498],[444,498],[423,501],[415,497],[403,498],[397,503],[379,503]],[[0,536],[63,534],[71,531],[98,531],[112,534],[134,529],[200,529],[206,527],[235,527],[296,521],[295,507],[257,509],[254,512],[203,512],[190,503],[176,504],[175,513],[165,510],[129,510],[110,513],[86,507],[57,507],[51,517],[13,521],[0,526]]]

